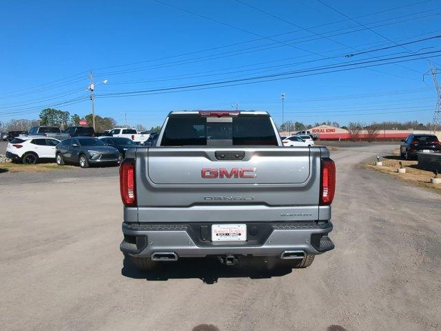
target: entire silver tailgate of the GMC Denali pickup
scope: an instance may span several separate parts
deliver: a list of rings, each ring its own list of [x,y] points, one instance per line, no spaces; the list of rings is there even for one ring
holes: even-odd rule
[[[244,157],[220,161],[216,152]],[[320,154],[320,147],[137,148],[133,212],[140,222],[316,220]],[[218,176],[203,178],[206,168]],[[220,177],[223,168],[230,177]],[[256,177],[240,177],[254,168],[245,174]]]

